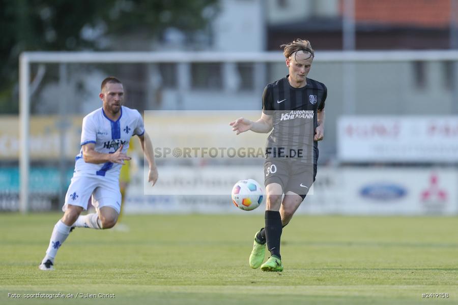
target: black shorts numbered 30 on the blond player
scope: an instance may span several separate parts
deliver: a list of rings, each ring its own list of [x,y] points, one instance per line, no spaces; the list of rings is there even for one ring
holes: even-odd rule
[[[308,193],[317,176],[316,162],[301,159],[267,158],[264,162],[264,185],[278,183],[283,193],[293,192],[302,197]]]

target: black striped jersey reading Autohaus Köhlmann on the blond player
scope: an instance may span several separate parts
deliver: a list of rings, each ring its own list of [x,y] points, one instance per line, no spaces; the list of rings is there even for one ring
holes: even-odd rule
[[[326,86],[311,78],[302,88],[291,86],[288,75],[268,84],[263,94],[263,112],[273,116],[273,130],[267,138],[266,155],[268,148],[274,153],[275,148],[281,147],[286,156],[295,150],[296,157],[316,162],[318,143],[313,137],[318,126],[317,110],[324,109],[326,97]],[[302,156],[297,156],[299,149]]]

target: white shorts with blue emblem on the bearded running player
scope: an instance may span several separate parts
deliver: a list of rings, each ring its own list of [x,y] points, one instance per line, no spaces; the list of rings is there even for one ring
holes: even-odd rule
[[[88,209],[89,198],[92,195],[92,205],[99,210],[103,206],[114,208],[118,214],[121,211],[121,192],[118,179],[107,179],[103,176],[73,176],[62,210],[65,212],[69,204]]]

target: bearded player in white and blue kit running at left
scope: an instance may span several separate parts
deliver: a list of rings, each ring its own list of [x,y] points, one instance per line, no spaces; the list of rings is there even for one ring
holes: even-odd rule
[[[132,136],[138,136],[149,164],[148,181],[152,186],[158,173],[153,145],[145,132],[137,110],[122,106],[121,81],[107,77],[102,81],[102,107],[83,118],[81,150],[75,158],[75,171],[62,208],[64,216],[54,226],[46,255],[39,268],[53,270],[54,258],[75,227],[109,229],[115,226],[121,209],[119,174]],[[96,213],[80,216],[92,196]]]

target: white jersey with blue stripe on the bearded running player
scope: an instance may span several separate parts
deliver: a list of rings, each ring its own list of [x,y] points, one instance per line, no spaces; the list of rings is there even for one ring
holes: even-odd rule
[[[141,136],[145,127],[141,114],[134,109],[121,106],[121,115],[118,120],[109,119],[103,108],[99,108],[83,118],[81,131],[81,146],[95,143],[98,153],[112,154],[124,145],[123,153],[129,148],[129,141],[133,135]],[[75,158],[73,176],[100,176],[109,179],[119,179],[121,164],[106,162],[103,164],[86,163],[82,158],[82,149]]]

